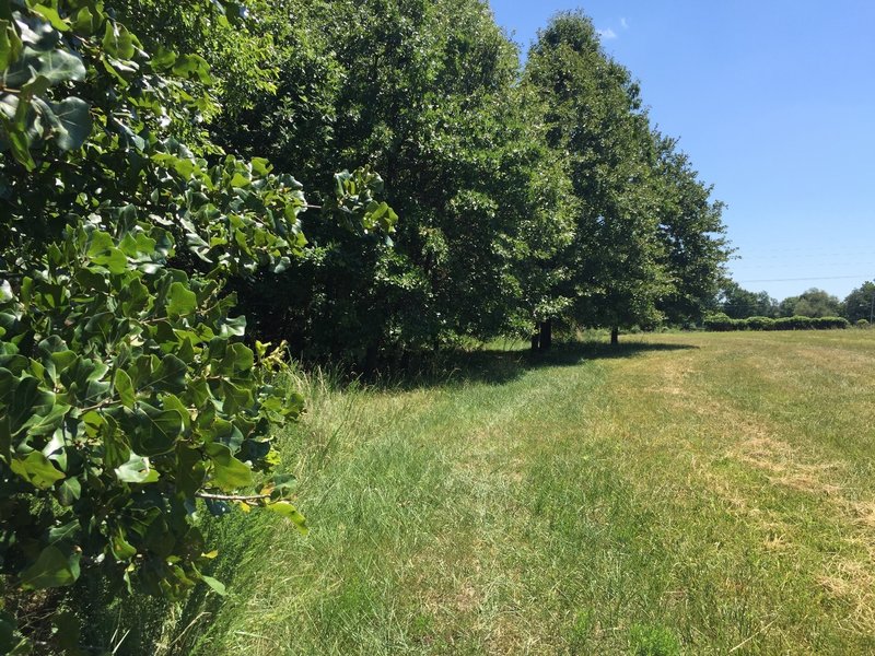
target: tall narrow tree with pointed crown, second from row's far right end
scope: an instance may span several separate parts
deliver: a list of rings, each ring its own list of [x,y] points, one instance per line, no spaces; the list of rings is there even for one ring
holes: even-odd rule
[[[558,14],[533,46],[526,80],[547,107],[549,145],[568,153],[578,200],[565,251],[571,314],[588,326],[618,328],[661,320],[669,290],[656,234],[653,141],[638,85],[602,50],[592,22]]]

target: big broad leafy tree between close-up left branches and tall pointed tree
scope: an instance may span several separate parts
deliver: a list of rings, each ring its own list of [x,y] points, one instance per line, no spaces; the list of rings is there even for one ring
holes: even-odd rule
[[[268,144],[279,169],[305,172],[317,203],[334,169],[370,163],[404,221],[392,248],[374,238],[364,249],[342,226],[307,224],[301,259],[241,290],[266,317],[260,329],[307,356],[370,368],[378,352],[506,331],[523,293],[532,313],[546,307],[521,262],[549,250],[541,235],[552,234],[558,169],[517,89],[516,49],[488,7],[281,5],[301,20],[275,19],[278,94],[241,114],[250,130],[231,121],[217,141],[238,152]]]

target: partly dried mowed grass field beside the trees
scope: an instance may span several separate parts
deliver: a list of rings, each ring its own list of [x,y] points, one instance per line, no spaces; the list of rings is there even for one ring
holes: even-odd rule
[[[304,382],[310,535],[215,523],[154,651],[875,653],[875,331],[622,339]]]

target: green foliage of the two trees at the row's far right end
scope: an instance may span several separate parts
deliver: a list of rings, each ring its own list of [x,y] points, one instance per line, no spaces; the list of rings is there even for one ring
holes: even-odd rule
[[[570,313],[583,326],[655,325],[660,306],[695,314],[725,259],[719,203],[674,142],[653,134],[629,71],[592,22],[558,14],[525,78],[539,94],[548,144],[567,153],[574,237],[559,258]],[[697,241],[698,239],[698,241]]]

